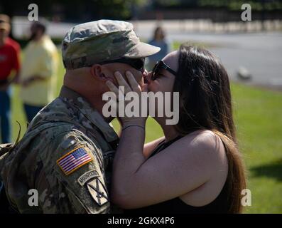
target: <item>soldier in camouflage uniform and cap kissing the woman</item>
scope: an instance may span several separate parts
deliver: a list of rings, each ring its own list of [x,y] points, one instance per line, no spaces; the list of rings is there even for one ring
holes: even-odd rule
[[[105,83],[114,81],[115,71],[127,70],[141,83],[144,58],[159,50],[140,42],[132,24],[124,21],[93,21],[67,32],[59,97],[40,110],[23,139],[0,157],[1,180],[14,209],[111,212],[108,190],[118,136],[109,125],[113,118],[102,115]]]

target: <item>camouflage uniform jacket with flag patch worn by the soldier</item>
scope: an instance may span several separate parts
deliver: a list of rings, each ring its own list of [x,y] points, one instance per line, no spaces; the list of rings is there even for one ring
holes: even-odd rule
[[[102,115],[63,86],[16,147],[0,157],[9,202],[21,213],[111,212],[109,189],[117,141]]]

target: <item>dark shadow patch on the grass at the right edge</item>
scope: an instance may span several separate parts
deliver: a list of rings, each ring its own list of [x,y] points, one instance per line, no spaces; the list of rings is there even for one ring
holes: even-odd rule
[[[271,177],[282,181],[282,159],[270,164],[251,167],[250,171],[254,177]]]

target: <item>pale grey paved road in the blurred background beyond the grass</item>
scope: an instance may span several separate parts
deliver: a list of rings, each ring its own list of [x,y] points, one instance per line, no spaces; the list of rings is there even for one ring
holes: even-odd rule
[[[14,33],[23,36],[29,24],[23,18],[15,19]],[[210,48],[227,68],[230,78],[237,80],[237,71],[244,66],[252,75],[248,83],[273,86],[282,89],[282,32],[265,33],[204,33],[191,32],[178,25],[163,21],[170,41],[196,41],[214,43]],[[55,24],[48,26],[51,36],[63,36],[72,24]],[[143,39],[150,38],[153,22],[137,21],[134,23],[136,33]]]

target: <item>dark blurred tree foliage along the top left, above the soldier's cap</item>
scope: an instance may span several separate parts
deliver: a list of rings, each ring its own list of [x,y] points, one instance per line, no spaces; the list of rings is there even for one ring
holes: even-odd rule
[[[2,13],[9,16],[28,14],[29,4],[38,4],[40,16],[48,19],[55,14],[63,15],[67,21],[87,21],[94,19],[131,19],[139,7],[148,0],[13,0],[0,2]],[[56,10],[54,10],[56,9]]]

